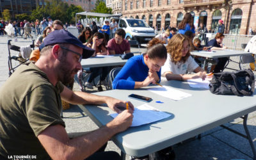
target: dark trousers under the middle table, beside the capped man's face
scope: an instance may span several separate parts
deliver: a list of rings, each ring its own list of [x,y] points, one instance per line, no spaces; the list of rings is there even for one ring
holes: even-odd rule
[[[93,79],[95,77],[99,76],[100,74],[100,81],[103,81],[108,76],[108,73],[110,71],[110,67],[93,67],[90,68],[90,71],[92,72],[87,80],[88,83],[92,83]]]

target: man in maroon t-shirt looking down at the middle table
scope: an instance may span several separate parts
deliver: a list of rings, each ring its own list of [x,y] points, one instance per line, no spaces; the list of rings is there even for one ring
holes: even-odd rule
[[[115,32],[115,37],[108,42],[108,54],[123,54],[131,52],[128,40],[125,40],[125,31],[119,28]]]

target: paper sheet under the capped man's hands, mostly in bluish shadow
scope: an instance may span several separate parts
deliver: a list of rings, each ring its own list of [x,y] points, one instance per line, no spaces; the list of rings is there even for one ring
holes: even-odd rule
[[[117,115],[117,113],[111,114],[113,118],[115,118]],[[163,120],[169,116],[172,116],[172,114],[164,113],[163,111],[159,111],[156,108],[149,106],[148,104],[143,104],[137,108],[134,108],[131,127],[150,124],[158,120]]]

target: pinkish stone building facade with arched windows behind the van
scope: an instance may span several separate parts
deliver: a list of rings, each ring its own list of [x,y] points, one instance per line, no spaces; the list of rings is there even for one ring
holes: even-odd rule
[[[256,29],[256,0],[122,0],[122,16],[145,19],[158,30],[177,27],[183,15],[190,12],[195,26],[202,22],[216,31],[218,20],[225,33],[246,35]]]

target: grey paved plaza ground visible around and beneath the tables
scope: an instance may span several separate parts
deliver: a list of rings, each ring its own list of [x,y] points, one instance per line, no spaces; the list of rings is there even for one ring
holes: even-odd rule
[[[7,41],[7,37],[0,36],[0,87],[4,84],[6,79],[8,79]],[[31,44],[31,39],[24,40],[19,38],[18,42],[14,42],[13,39],[12,44],[18,46],[29,45]],[[138,47],[132,47],[131,51],[138,51]],[[146,49],[142,48],[141,51],[145,52]],[[17,54],[17,52],[15,54]],[[239,58],[233,57],[232,60],[238,61]],[[228,67],[238,69],[238,65],[232,62]],[[17,79],[17,83],[26,82],[19,82],[19,79]],[[74,84],[74,90],[79,90],[77,83]],[[89,91],[97,92],[97,88]],[[225,108],[225,106],[223,106],[223,108]],[[251,133],[254,145],[256,145],[255,116],[256,112],[254,111],[250,113],[248,118],[248,129]],[[70,109],[64,110],[63,117],[67,132],[92,131],[98,128],[78,106],[71,106]],[[225,125],[244,133],[243,120],[241,118],[237,118]],[[112,141],[108,142],[106,150],[116,150],[116,152],[120,153],[120,149],[116,147]],[[251,147],[246,139],[221,127],[216,127],[202,133],[200,140],[195,138],[179,143],[174,146],[174,150],[177,159],[252,159],[253,157]],[[129,159],[129,156],[127,156],[126,159]]]

